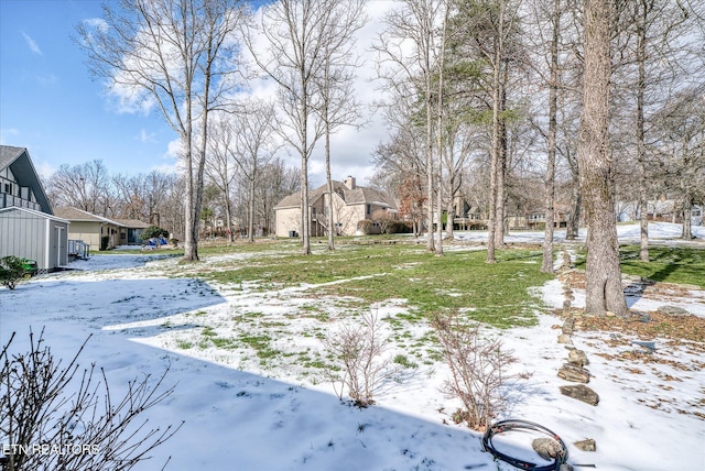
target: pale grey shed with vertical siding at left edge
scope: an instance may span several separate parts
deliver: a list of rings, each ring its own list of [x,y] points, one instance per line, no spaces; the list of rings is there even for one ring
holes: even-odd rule
[[[0,210],[0,258],[35,260],[40,270],[68,263],[68,221],[23,208]]]

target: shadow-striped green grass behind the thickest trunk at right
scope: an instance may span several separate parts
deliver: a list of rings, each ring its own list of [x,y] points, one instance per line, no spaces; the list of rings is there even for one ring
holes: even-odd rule
[[[705,288],[705,249],[650,247],[649,262],[639,261],[638,245],[619,248],[622,273],[661,283],[695,285]],[[585,253],[576,266],[585,269]]]

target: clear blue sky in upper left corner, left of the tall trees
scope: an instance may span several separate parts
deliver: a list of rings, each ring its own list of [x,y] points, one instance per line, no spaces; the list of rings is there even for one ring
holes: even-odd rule
[[[91,160],[127,174],[175,165],[161,118],[117,113],[91,79],[72,36],[97,17],[94,0],[0,1],[0,141],[28,147],[43,176]]]

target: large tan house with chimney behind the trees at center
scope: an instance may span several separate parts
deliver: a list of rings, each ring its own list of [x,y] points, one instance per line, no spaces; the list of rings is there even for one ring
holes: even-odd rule
[[[352,236],[357,223],[364,219],[389,215],[397,218],[397,205],[376,189],[358,186],[354,177],[333,182],[333,217],[328,215],[327,184],[308,191],[311,236],[325,236],[333,227],[338,236]],[[278,237],[295,237],[301,233],[301,193],[296,191],[274,206]]]

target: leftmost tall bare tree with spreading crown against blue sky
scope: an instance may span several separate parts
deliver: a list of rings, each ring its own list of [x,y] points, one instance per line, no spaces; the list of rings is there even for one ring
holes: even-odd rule
[[[208,114],[237,85],[240,0],[121,0],[98,28],[78,25],[91,74],[108,89],[155,105],[181,140],[185,254],[198,260]]]

